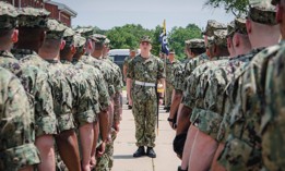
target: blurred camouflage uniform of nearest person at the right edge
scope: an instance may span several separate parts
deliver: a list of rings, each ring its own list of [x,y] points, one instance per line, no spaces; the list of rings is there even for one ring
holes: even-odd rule
[[[277,51],[269,56],[268,68],[263,64],[265,75],[265,110],[262,113],[260,133],[262,138],[262,160],[269,170],[283,170],[285,166],[284,148],[284,58],[285,44],[277,46]],[[264,76],[264,75],[261,75]],[[263,103],[262,103],[263,105]],[[262,106],[264,107],[264,106]],[[264,109],[264,108],[262,108]],[[263,110],[262,110],[263,111]]]

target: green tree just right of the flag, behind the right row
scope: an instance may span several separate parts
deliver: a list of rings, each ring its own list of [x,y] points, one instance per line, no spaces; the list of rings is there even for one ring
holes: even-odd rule
[[[178,60],[185,59],[185,40],[202,38],[202,30],[195,24],[183,27],[174,27],[168,36],[169,47],[175,49]]]

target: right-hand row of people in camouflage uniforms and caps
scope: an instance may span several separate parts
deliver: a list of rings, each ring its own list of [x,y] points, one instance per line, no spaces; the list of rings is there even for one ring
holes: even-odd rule
[[[174,71],[178,171],[284,170],[285,1],[249,0],[246,17],[203,35]]]

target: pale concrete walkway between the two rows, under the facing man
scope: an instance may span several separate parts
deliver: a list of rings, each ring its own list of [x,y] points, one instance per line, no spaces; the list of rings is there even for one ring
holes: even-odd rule
[[[123,103],[126,103],[126,98]],[[128,106],[123,105],[120,132],[115,141],[112,171],[176,171],[180,160],[173,151],[175,131],[168,125],[167,118],[168,113],[161,107],[159,132],[154,148],[157,157],[155,159],[146,156],[133,158],[132,154],[138,148],[134,138],[134,120],[131,110],[128,110]]]

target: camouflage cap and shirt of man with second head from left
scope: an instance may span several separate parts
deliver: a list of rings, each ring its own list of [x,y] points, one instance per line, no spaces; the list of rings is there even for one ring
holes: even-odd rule
[[[22,8],[19,16],[19,25],[29,28],[47,28],[46,17],[48,14],[49,13],[45,10]],[[58,133],[74,129],[72,117],[72,94],[68,86],[66,76],[62,73],[62,64],[56,60],[45,61],[35,51],[29,49],[14,49],[13,53],[15,58],[20,59],[20,62],[23,65],[35,65],[47,73],[48,82],[51,86],[54,112],[57,117]]]

